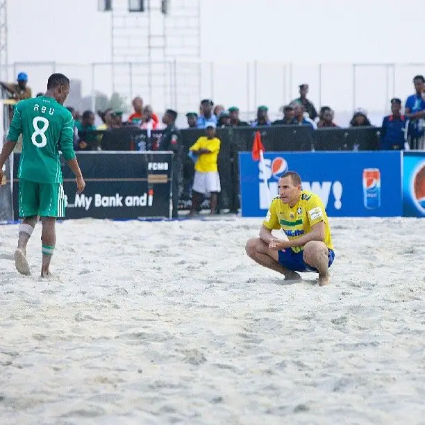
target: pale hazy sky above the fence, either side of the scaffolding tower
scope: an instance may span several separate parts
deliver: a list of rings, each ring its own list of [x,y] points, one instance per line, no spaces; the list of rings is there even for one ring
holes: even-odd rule
[[[201,52],[224,61],[421,62],[420,43],[406,40],[424,12],[423,0],[201,0]],[[8,30],[10,62],[110,60],[110,15],[97,0],[8,0]]]

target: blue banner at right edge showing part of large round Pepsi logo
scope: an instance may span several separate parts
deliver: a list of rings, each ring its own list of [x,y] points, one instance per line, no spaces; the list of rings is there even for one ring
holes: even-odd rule
[[[407,151],[403,156],[403,215],[425,217],[424,151]]]

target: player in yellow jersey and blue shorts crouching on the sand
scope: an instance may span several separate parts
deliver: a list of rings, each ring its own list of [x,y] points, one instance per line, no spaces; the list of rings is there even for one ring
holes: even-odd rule
[[[278,196],[270,204],[260,237],[248,240],[245,249],[256,263],[299,280],[297,272],[319,273],[319,285],[330,281],[328,267],[335,258],[328,217],[322,199],[301,190],[301,177],[286,172],[278,181]],[[288,240],[272,235],[282,229]]]

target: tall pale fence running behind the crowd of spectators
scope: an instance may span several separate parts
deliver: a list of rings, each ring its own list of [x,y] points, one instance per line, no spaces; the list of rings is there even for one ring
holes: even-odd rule
[[[387,113],[392,97],[404,100],[412,93],[412,78],[425,73],[425,64],[15,63],[8,66],[8,80],[18,72],[28,74],[34,94],[45,90],[52,72],[80,81],[81,85],[73,85],[68,101],[77,108],[94,108],[98,92],[108,97],[118,92],[128,108],[140,95],[158,112],[176,108],[180,113],[197,110],[200,99],[209,97],[226,107],[239,106],[246,118],[255,116],[260,104],[269,106],[271,117],[279,116],[278,109],[298,97],[298,85],[308,83],[308,97],[317,108],[331,106],[338,119],[361,107],[373,120]]]

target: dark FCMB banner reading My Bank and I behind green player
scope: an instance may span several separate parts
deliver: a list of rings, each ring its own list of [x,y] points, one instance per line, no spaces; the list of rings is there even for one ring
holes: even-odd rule
[[[76,194],[74,174],[63,162],[65,218],[171,217],[172,152],[81,152],[77,159],[86,186],[82,194]],[[18,164],[15,153],[15,219]]]

